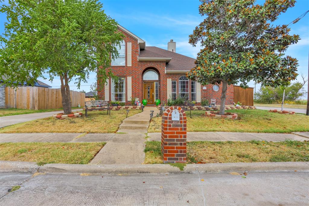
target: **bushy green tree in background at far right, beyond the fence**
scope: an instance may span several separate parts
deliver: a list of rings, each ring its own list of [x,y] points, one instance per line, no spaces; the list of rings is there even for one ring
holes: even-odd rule
[[[303,75],[302,78],[303,82],[297,81],[287,86],[279,86],[276,88],[267,86],[261,87],[259,91],[256,92],[254,102],[262,104],[273,104],[281,102],[282,99],[285,101],[296,101],[301,97],[304,97],[306,94],[304,85],[308,80],[305,79]]]

